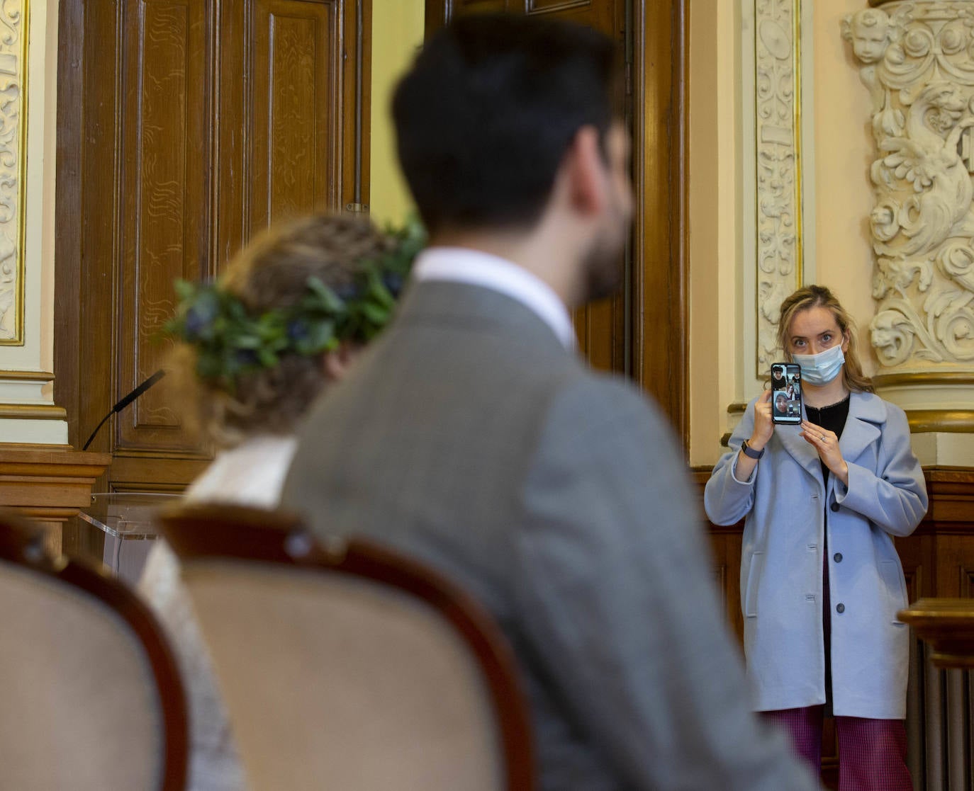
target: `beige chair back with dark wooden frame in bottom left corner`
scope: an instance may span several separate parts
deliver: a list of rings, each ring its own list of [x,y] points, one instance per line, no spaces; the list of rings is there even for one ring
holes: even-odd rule
[[[107,569],[53,556],[0,513],[0,785],[179,791],[186,703],[149,609]]]

